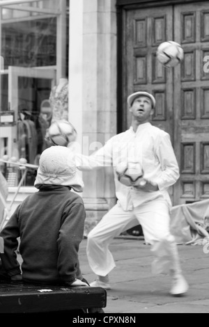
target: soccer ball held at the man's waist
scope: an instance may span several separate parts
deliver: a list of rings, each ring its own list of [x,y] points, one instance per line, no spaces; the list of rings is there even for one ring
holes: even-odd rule
[[[144,186],[146,181],[143,179],[141,166],[138,163],[130,163],[127,168],[118,166],[116,168],[118,181],[125,186]]]

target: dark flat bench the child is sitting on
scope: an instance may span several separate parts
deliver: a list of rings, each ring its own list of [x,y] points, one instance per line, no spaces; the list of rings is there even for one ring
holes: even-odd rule
[[[65,287],[0,282],[0,313],[85,312],[105,308],[107,292],[102,287]]]

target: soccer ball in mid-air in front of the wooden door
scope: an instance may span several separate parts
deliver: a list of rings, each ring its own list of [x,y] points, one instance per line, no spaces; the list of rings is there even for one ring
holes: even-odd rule
[[[165,67],[175,67],[184,58],[183,47],[177,42],[162,42],[157,48],[157,60]]]

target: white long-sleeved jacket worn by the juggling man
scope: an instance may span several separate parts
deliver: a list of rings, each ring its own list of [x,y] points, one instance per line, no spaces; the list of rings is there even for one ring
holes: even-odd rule
[[[113,136],[89,157],[76,154],[75,158],[80,170],[114,166],[116,198],[124,210],[132,210],[133,207],[160,195],[171,205],[168,188],[179,178],[178,163],[169,134],[154,127],[150,122],[139,125],[136,133],[130,127],[127,131]],[[141,164],[144,179],[157,183],[159,191],[145,192],[118,182],[117,166],[127,166],[130,161]]]

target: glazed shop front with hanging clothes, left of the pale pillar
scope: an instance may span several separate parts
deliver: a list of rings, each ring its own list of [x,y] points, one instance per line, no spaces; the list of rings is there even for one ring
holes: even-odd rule
[[[0,117],[6,120],[7,112],[14,117],[13,123],[0,122],[0,159],[24,158],[27,163],[38,165],[42,151],[51,146],[46,136],[52,109],[45,108],[48,115],[42,111],[42,104],[49,101],[57,79],[68,78],[69,0],[16,5],[8,1],[0,10]],[[61,28],[62,22],[65,30]],[[61,39],[64,47],[57,43]],[[62,76],[57,77],[60,67]],[[22,177],[17,167],[0,163],[0,170],[8,178],[9,186],[17,186]],[[33,186],[35,178],[36,170],[28,170],[24,186]]]

